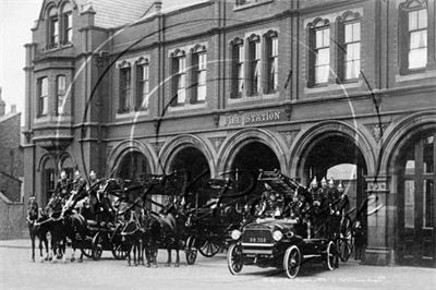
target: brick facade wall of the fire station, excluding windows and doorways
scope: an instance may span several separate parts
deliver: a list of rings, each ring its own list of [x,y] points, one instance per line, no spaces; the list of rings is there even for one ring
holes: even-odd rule
[[[44,1],[33,41],[26,45],[25,192],[35,192],[44,201],[47,181],[59,176],[65,159],[80,170],[109,176],[119,172],[131,152],[141,153],[149,170],[158,173],[170,171],[181,153],[195,148],[215,177],[234,169],[244,146],[258,143],[277,157],[275,166],[302,182],[326,174],[335,162],[356,164],[358,200],[376,194],[386,205],[368,217],[365,263],[400,263],[397,218],[402,193],[395,165],[404,140],[432,131],[436,122],[434,0],[424,1],[429,20],[427,67],[407,75],[397,67],[398,9],[405,0],[264,0],[239,7],[217,0],[168,11],[155,3],[141,20],[110,28],[95,24],[101,11],[85,10],[78,1],[73,9],[72,44],[46,49],[45,13],[51,2],[61,1]],[[358,14],[361,23],[362,75],[355,82],[338,83],[336,74],[343,63],[337,57],[341,49],[336,43],[337,24],[349,12]],[[307,86],[312,49],[307,32],[318,19],[329,23],[331,71],[327,84]],[[232,99],[231,41],[241,38],[246,45],[258,35],[264,44],[262,37],[270,31],[279,41],[277,92]],[[190,61],[195,45],[204,45],[207,51],[206,101],[167,106],[174,97],[171,53],[184,51]],[[149,60],[149,106],[141,111],[132,106],[120,113],[120,65],[131,68],[135,94],[135,68],[142,57]],[[55,113],[55,80],[60,74],[66,76],[69,87],[65,116]],[[263,82],[264,74],[265,70]],[[36,118],[36,81],[46,76],[49,113]],[[187,77],[191,82],[191,72]],[[350,142],[359,154],[329,152],[323,141],[337,146]],[[317,158],[326,161],[316,166]],[[47,165],[52,177],[45,171]],[[366,181],[374,184],[374,178],[387,190],[366,189]]]

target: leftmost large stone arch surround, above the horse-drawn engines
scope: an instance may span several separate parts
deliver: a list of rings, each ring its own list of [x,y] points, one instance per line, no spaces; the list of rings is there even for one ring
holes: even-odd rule
[[[131,152],[143,154],[147,160],[152,173],[156,172],[157,156],[149,144],[144,144],[136,140],[126,140],[118,144],[108,156],[107,176],[112,176],[120,165],[122,158]]]

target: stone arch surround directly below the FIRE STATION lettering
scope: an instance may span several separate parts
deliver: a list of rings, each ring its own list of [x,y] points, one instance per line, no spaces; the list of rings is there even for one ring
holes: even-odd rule
[[[259,142],[268,146],[277,156],[280,169],[283,173],[288,172],[288,157],[286,154],[287,145],[277,137],[277,135],[268,130],[263,129],[244,129],[229,136],[222,144],[218,153],[218,172],[225,172],[231,169],[231,165],[241,148],[251,143]]]

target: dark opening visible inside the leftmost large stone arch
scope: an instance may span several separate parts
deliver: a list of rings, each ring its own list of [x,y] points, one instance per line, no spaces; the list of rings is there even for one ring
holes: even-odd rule
[[[124,180],[134,180],[149,172],[147,158],[136,150],[126,153],[117,168],[117,177]]]

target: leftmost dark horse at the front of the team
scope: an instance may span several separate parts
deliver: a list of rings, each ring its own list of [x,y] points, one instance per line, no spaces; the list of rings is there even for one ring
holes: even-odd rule
[[[35,262],[35,239],[39,240],[39,256],[41,262],[49,259],[49,247],[48,247],[48,239],[47,233],[50,230],[50,219],[48,215],[41,212],[41,216],[39,217],[39,208],[38,203],[36,202],[35,196],[31,196],[27,204],[27,217],[26,217],[28,233],[31,235],[32,241],[32,261]],[[46,257],[43,258],[43,244],[46,247]]]

